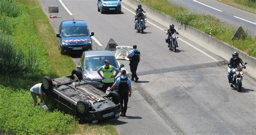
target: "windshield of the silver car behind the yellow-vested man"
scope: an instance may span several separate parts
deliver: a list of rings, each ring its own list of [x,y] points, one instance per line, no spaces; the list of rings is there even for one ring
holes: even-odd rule
[[[85,59],[85,69],[86,70],[98,70],[101,66],[105,65],[104,60],[109,60],[110,65],[115,68],[119,68],[117,60],[113,56],[97,56],[88,57]]]

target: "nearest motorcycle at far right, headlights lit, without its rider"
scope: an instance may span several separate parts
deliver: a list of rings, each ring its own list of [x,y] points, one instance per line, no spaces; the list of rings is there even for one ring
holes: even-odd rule
[[[247,63],[245,63],[246,65]],[[230,84],[231,87],[234,87],[237,89],[238,92],[241,92],[242,90],[242,77],[244,76],[244,72],[242,72],[242,69],[245,69],[244,66],[238,66],[237,68],[233,69],[231,72],[233,72],[232,82]]]

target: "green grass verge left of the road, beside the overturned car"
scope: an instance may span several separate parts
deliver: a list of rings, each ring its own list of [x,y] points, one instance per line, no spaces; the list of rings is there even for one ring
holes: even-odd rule
[[[3,2],[11,2],[9,5],[16,10],[10,10],[13,7],[0,10],[0,19],[4,20],[0,21],[0,31],[11,40],[9,45],[28,58],[33,45],[36,55],[32,57],[37,60],[37,68],[16,76],[0,75],[0,134],[117,134],[110,124],[79,125],[69,114],[32,106],[30,87],[41,82],[45,75],[52,78],[70,75],[75,63],[70,57],[60,55],[55,32],[38,0],[1,0],[0,5]]]

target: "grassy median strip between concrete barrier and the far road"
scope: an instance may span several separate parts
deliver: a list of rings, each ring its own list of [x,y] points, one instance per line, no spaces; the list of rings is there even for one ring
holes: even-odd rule
[[[239,39],[233,42],[231,39],[235,30],[213,16],[192,13],[167,0],[140,0],[140,2],[256,57],[256,39],[248,32],[245,40]]]

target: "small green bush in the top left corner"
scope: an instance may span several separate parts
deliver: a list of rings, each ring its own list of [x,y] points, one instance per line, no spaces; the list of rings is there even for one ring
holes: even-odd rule
[[[21,9],[14,2],[14,0],[1,0],[0,1],[0,14],[9,17],[18,17],[21,15]]]

